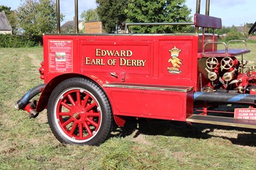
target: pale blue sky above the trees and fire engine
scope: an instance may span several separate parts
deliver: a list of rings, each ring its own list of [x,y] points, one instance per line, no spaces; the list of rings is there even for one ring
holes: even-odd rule
[[[16,10],[22,0],[0,0],[0,5]],[[95,0],[79,0],[79,15],[84,10],[97,8]],[[195,13],[196,0],[186,0],[186,5],[191,9],[191,16]],[[210,0],[210,15],[222,19],[223,26],[243,26],[246,23],[256,22],[255,0]],[[73,20],[74,0],[60,0],[60,12],[65,15],[65,20]],[[201,0],[201,12],[205,14],[205,0]]]

